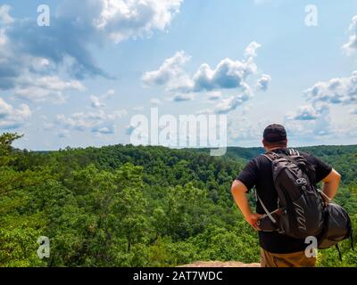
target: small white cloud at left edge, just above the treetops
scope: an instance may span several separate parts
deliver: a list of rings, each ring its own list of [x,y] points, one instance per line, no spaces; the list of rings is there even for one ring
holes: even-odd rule
[[[0,98],[0,128],[16,129],[25,125],[31,117],[31,110],[26,104],[21,104],[19,108],[13,108],[12,105]]]

